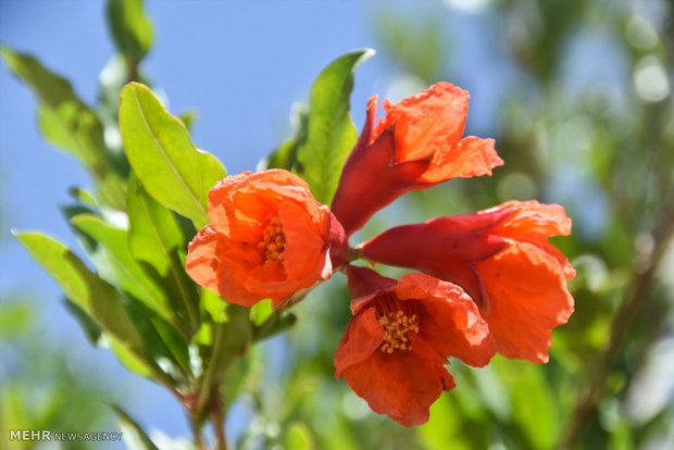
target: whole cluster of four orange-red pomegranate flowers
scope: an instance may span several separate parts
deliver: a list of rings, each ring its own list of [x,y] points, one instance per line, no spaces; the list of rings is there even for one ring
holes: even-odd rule
[[[571,233],[557,204],[511,201],[382,233],[354,248],[348,238],[411,190],[454,177],[490,175],[503,161],[492,139],[462,137],[469,93],[438,83],[397,104],[367,103],[330,208],[283,170],[220,182],[211,224],[189,246],[188,273],[227,301],[273,305],[342,270],[353,316],[335,355],[342,376],[373,411],[410,426],[454,387],[448,358],[486,365],[495,353],[547,362],[552,328],[566,323],[575,271],[548,242]],[[399,280],[352,265],[363,258],[417,272]]]

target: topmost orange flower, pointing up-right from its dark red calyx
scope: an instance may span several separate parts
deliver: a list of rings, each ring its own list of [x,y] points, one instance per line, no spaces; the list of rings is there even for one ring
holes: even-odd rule
[[[401,195],[454,177],[491,174],[503,164],[494,139],[461,138],[469,92],[438,83],[397,104],[367,102],[363,132],[345,164],[332,210],[347,235]]]

